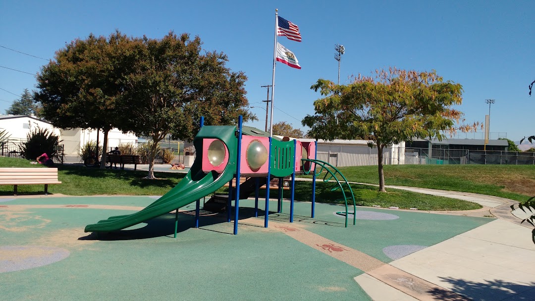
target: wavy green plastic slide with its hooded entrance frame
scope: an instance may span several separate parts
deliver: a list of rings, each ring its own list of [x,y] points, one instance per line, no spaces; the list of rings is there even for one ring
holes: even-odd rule
[[[236,172],[236,152],[238,149],[238,139],[235,136],[234,126],[204,126],[197,136],[194,145],[197,150],[196,160],[189,173],[177,186],[163,195],[156,202],[150,204],[145,209],[128,215],[120,215],[101,220],[92,225],[87,225],[86,232],[108,232],[125,229],[140,222],[144,222],[160,215],[167,214],[180,207],[195,202],[215,192],[233,179]],[[228,149],[228,164],[222,173],[202,171],[201,159],[203,157],[202,141],[205,138],[217,138],[223,141]]]

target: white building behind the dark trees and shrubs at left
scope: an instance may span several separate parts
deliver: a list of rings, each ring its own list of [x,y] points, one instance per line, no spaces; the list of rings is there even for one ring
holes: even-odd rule
[[[93,129],[60,129],[52,126],[49,122],[40,120],[35,116],[27,115],[0,115],[0,130],[6,129],[11,141],[26,141],[28,133],[32,132],[37,126],[47,128],[63,140],[65,155],[77,155],[81,146],[87,142],[97,140],[97,131]],[[98,134],[98,141],[103,144],[104,133],[102,130]],[[118,129],[112,129],[108,133],[108,147],[114,148],[121,143],[134,143],[137,145],[137,137],[133,133],[124,134]]]

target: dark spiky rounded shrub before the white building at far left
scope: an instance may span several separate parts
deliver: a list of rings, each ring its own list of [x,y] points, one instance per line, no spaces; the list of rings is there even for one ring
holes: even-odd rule
[[[47,153],[50,159],[57,158],[63,161],[63,152],[59,151],[59,143],[62,141],[50,130],[37,126],[26,135],[26,142],[20,144],[20,156],[28,160],[35,160],[43,153]]]

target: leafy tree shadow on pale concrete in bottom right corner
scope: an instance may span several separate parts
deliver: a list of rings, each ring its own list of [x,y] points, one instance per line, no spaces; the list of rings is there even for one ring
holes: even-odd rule
[[[492,275],[489,275],[489,278],[492,278]],[[508,298],[511,298],[511,300],[533,300],[533,296],[535,296],[535,281],[518,284],[503,280],[473,282],[464,279],[455,279],[453,277],[440,277],[440,279],[452,284],[453,287],[451,290],[454,293],[467,296],[473,300],[509,300]],[[467,300],[456,294],[448,294],[448,291],[442,289],[434,289],[429,292],[439,300]]]

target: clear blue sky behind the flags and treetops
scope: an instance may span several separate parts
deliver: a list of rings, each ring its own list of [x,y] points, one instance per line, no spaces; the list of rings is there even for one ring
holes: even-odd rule
[[[259,119],[249,125],[264,128],[266,88],[261,86],[271,84],[276,8],[299,26],[303,41],[278,37],[302,69],[277,64],[273,122],[302,128],[301,119],[314,113],[312,103],[320,97],[310,86],[319,78],[337,80],[338,43],[346,48],[341,83],[388,66],[434,69],[462,84],[458,109],[467,121],[484,121],[485,99],[495,99],[491,132],[515,141],[535,134],[535,96],[528,96],[535,80],[533,1],[3,1],[0,45],[50,59],[65,42],[89,33],[198,35],[204,49],[226,53],[227,66],[246,73],[247,97]],[[13,94],[34,89],[31,74],[44,64],[47,60],[0,48],[0,66],[30,73],[0,67],[0,113],[18,98]]]

